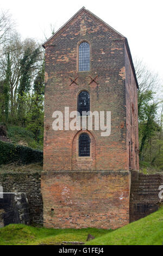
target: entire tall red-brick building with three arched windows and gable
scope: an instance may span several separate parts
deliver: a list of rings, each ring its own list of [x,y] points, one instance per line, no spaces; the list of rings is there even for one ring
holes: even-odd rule
[[[43,47],[44,224],[121,227],[129,223],[130,169],[139,169],[139,86],[128,41],[83,7]],[[94,124],[92,130],[68,129],[65,117],[54,130],[53,112],[65,114],[65,107],[80,114],[109,111],[110,135],[101,136]]]

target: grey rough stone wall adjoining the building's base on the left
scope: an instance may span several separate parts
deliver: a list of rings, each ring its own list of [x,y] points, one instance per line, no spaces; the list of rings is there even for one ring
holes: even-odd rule
[[[41,196],[41,172],[0,173],[0,185],[3,186],[3,192],[26,193],[30,211],[30,224],[42,225],[43,202]]]

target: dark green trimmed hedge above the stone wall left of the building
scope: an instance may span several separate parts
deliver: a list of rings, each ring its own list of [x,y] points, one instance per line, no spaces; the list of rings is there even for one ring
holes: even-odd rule
[[[22,145],[0,141],[0,165],[10,162],[43,163],[43,152]]]

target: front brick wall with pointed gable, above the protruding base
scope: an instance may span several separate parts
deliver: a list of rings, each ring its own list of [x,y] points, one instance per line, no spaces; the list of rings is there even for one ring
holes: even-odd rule
[[[91,46],[90,71],[78,72],[79,42]],[[111,111],[111,135],[93,129],[97,170],[128,170],[126,145],[126,90],[124,39],[92,15],[82,11],[59,34],[45,44],[45,136],[44,170],[73,170],[72,143],[78,131],[54,131],[52,114],[65,107],[77,110],[81,90],[90,93],[90,110]],[[91,77],[95,77],[91,84]],[[77,78],[71,84],[71,78]],[[70,86],[71,84],[71,86]],[[92,156],[93,158],[93,156]],[[93,159],[94,160],[94,159]],[[80,163],[79,169],[82,168]],[[85,169],[85,166],[84,168]],[[95,169],[92,164],[90,169]]]

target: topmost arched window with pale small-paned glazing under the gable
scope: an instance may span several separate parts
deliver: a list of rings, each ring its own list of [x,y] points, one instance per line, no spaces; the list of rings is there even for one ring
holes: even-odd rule
[[[82,42],[79,45],[79,71],[90,70],[90,45],[88,42]]]

